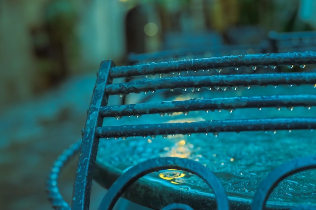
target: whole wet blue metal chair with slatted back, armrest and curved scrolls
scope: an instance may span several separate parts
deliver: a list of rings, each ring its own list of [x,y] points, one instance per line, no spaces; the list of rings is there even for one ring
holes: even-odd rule
[[[195,122],[177,123],[150,123],[142,124],[141,118],[137,120],[140,124],[121,124],[118,126],[103,125],[103,119],[115,117],[120,119],[123,116],[138,116],[164,114],[196,110],[235,110],[245,108],[264,107],[287,107],[291,109],[296,106],[316,106],[316,95],[313,94],[291,94],[249,96],[249,97],[217,97],[217,98],[192,98],[187,100],[159,101],[138,104],[126,104],[119,106],[108,106],[109,96],[120,95],[123,97],[130,93],[152,92],[159,96],[160,90],[170,90],[178,93],[180,90],[187,92],[192,90],[199,92],[204,90],[222,90],[228,88],[236,90],[238,87],[250,88],[252,86],[277,86],[277,85],[311,85],[316,84],[315,72],[300,73],[264,73],[264,74],[234,74],[222,75],[222,68],[234,67],[238,72],[241,67],[257,68],[285,65],[292,68],[294,65],[305,67],[308,64],[316,63],[315,52],[301,53],[272,53],[272,54],[246,54],[236,56],[212,57],[203,59],[177,60],[168,62],[149,62],[129,66],[115,66],[112,61],[102,61],[91,104],[88,110],[86,126],[83,130],[82,141],[67,150],[56,162],[51,170],[48,180],[49,199],[56,209],[89,209],[91,182],[98,150],[99,138],[127,138],[131,136],[156,136],[191,134],[191,133],[213,133],[219,132],[240,132],[240,131],[266,131],[266,130],[295,130],[315,129],[315,117],[282,117],[282,118],[256,118],[256,119],[232,119],[232,120],[206,120]],[[209,69],[217,69],[217,74],[210,74]],[[197,76],[187,72],[199,72]],[[162,76],[162,74],[164,76]],[[148,78],[146,75],[156,75],[156,78]],[[115,78],[138,77],[139,80],[114,84]],[[176,77],[174,77],[176,76]],[[180,93],[181,95],[181,93]],[[137,119],[136,118],[136,119]],[[106,140],[105,140],[106,141]],[[57,183],[59,173],[66,162],[79,152],[79,160],[74,183],[72,207],[63,200]],[[307,160],[307,162],[306,162]],[[300,170],[315,168],[315,157],[298,159],[292,165],[282,166],[281,171],[274,172],[272,177],[267,177],[266,184],[262,183],[261,190],[258,190],[254,197],[253,209],[262,209],[267,201],[271,190],[276,184],[289,174]],[[190,165],[191,164],[191,165]],[[158,171],[167,168],[179,168],[188,170],[200,175],[215,191],[217,206],[219,209],[228,209],[227,196],[218,179],[205,167],[192,160],[179,158],[158,158],[149,160],[135,166],[127,171],[122,178],[109,189],[100,208],[112,209],[116,200],[124,190],[139,177],[151,171]],[[277,175],[277,178],[275,177]],[[272,182],[268,186],[267,182]],[[192,209],[183,204],[171,204],[163,209]]]

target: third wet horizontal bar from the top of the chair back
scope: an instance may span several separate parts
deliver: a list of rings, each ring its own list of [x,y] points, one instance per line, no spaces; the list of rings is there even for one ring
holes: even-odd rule
[[[163,101],[100,108],[102,117],[131,116],[196,110],[316,106],[316,95],[273,95],[247,97],[201,98],[181,101]]]

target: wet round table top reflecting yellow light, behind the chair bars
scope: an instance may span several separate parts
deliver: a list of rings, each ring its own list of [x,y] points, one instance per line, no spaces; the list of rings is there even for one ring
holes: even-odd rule
[[[315,93],[315,89],[300,87],[291,89],[279,87],[278,91],[265,93]],[[241,90],[237,95],[258,95],[261,89]],[[270,93],[270,94],[269,94]],[[212,97],[225,96],[224,91],[215,92]],[[186,115],[186,121],[210,119],[240,119],[315,116],[316,108],[295,107],[237,109],[214,112],[196,111]],[[156,122],[181,121],[182,112],[172,116],[151,115],[137,119]],[[117,123],[130,123],[135,117],[126,117]],[[147,121],[148,122],[148,121]],[[95,179],[109,188],[113,182],[130,167],[155,157],[188,158],[202,163],[220,179],[228,195],[232,209],[247,209],[260,184],[273,169],[297,157],[315,154],[316,138],[313,130],[247,131],[223,133],[199,133],[188,135],[129,137],[122,139],[101,139],[96,160]],[[297,173],[281,181],[267,202],[267,207],[287,208],[297,203],[316,205],[316,170]],[[145,175],[129,187],[124,196],[134,202],[153,208],[161,208],[172,202],[187,202],[194,209],[208,209],[214,205],[212,189],[196,175],[180,170],[162,170]]]

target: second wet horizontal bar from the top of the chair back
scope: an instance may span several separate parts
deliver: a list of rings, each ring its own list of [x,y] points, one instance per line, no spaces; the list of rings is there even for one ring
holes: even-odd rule
[[[106,87],[109,95],[139,93],[175,88],[234,87],[252,85],[316,84],[316,73],[274,73],[251,75],[187,76],[161,79],[144,79]]]

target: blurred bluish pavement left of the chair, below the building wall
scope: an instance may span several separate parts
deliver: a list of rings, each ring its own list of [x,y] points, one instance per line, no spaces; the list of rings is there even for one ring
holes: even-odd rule
[[[55,90],[2,111],[1,209],[52,209],[45,182],[54,160],[81,137],[95,79],[95,74],[70,79]],[[61,178],[61,191],[69,203],[76,164],[72,161]],[[104,193],[94,184],[91,209],[97,208]]]

